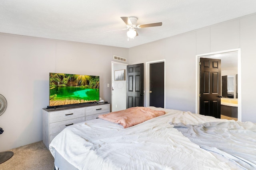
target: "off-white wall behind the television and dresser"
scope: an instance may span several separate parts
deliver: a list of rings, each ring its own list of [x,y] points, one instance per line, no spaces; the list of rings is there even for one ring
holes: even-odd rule
[[[100,96],[110,102],[113,55],[128,49],[0,33],[0,152],[42,140],[42,108],[49,105],[49,72],[100,76]]]

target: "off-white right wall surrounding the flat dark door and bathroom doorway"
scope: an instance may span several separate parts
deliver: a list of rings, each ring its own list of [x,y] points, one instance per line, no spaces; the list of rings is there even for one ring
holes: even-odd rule
[[[256,123],[255,21],[256,14],[130,48],[128,64],[166,59],[166,108],[195,113],[195,56],[241,48],[242,121]]]

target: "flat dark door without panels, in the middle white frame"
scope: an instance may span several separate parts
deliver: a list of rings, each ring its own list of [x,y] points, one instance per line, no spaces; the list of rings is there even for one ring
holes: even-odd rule
[[[149,65],[149,106],[164,108],[164,62]]]

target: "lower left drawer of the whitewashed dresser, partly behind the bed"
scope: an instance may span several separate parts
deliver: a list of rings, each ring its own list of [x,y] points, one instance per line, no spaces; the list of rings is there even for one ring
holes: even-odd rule
[[[63,129],[65,129],[65,127],[67,127],[70,124],[75,124],[75,123],[80,123],[83,122],[84,117],[79,117],[76,119],[70,119],[70,120],[66,120],[66,121],[59,121],[59,122],[55,122],[55,123],[50,123],[50,135],[54,134],[54,133],[60,133]]]

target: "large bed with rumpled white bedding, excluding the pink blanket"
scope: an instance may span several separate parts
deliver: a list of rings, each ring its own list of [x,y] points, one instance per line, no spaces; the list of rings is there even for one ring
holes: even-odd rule
[[[128,127],[126,117],[66,127],[50,143],[56,169],[256,169],[255,123],[145,108],[164,114]]]

